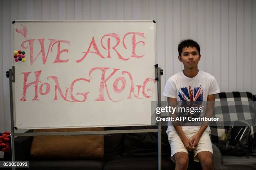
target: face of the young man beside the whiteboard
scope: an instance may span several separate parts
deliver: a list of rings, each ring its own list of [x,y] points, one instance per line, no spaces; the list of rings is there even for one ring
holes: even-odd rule
[[[184,47],[182,49],[179,61],[183,63],[184,68],[195,68],[198,65],[201,55],[197,51],[196,47]]]

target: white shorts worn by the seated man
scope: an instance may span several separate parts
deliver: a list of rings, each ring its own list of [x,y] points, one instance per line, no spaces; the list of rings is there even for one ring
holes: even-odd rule
[[[187,136],[187,138],[191,139],[193,135],[195,135],[198,130],[195,129],[184,129],[184,134]],[[175,163],[174,154],[178,152],[185,152],[188,154],[187,149],[184,147],[182,140],[179,138],[179,135],[177,134],[176,130],[174,129],[172,132],[169,132],[169,143],[171,146],[171,160]],[[194,160],[196,162],[199,162],[197,158],[197,153],[200,153],[202,151],[209,151],[212,152],[212,142],[210,139],[209,132],[205,130],[205,132],[202,134],[202,137],[199,140],[198,145],[195,147],[194,152]]]

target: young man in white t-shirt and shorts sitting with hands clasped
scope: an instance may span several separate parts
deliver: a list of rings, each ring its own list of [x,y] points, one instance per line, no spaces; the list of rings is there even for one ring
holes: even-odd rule
[[[215,78],[207,72],[198,70],[200,61],[200,46],[193,40],[183,40],[179,43],[179,61],[184,70],[167,80],[163,95],[168,103],[177,101],[215,101],[215,94],[220,92]],[[211,103],[208,105],[208,103]],[[207,102],[206,112],[213,112],[214,102]],[[175,104],[176,105],[176,104]],[[208,108],[209,107],[209,108]],[[189,157],[188,150],[194,152],[194,160],[199,161],[203,170],[213,170],[212,143],[210,128],[201,126],[180,126],[168,122],[171,159],[176,163],[176,170],[186,170]]]

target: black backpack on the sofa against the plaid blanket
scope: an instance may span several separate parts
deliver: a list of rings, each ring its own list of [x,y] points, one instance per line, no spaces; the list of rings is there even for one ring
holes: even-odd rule
[[[239,120],[229,127],[225,139],[219,141],[218,148],[222,155],[254,156],[256,154],[253,153],[253,145],[250,123]]]

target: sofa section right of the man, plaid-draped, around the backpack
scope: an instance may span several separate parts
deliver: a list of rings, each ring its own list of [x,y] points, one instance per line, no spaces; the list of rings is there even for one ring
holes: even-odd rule
[[[220,92],[215,96],[215,117],[225,120],[247,120],[251,123],[252,136],[256,138],[256,95],[251,92]],[[222,155],[216,147],[220,137],[228,130],[227,125],[210,126],[213,143],[214,166],[220,170],[255,170],[256,157]],[[255,141],[255,140],[254,140]],[[254,142],[255,143],[255,142]],[[255,145],[254,145],[255,147]],[[254,148],[255,152],[256,149]],[[216,159],[215,159],[216,158]]]

